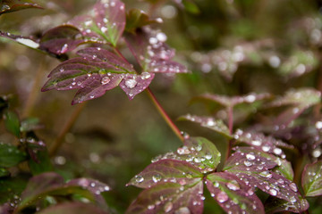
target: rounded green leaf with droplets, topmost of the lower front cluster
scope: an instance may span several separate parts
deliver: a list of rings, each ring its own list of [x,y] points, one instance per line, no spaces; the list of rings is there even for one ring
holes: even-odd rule
[[[152,162],[165,159],[186,161],[197,167],[202,173],[207,173],[216,169],[220,157],[221,153],[216,149],[215,144],[204,137],[190,137],[176,152],[159,155]]]

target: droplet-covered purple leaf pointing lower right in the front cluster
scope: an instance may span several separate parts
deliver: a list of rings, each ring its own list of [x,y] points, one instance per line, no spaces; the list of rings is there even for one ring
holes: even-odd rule
[[[224,170],[235,174],[247,185],[258,187],[300,209],[301,200],[297,186],[289,179],[268,170],[275,165],[275,162],[260,156],[258,152],[235,152],[226,161]]]

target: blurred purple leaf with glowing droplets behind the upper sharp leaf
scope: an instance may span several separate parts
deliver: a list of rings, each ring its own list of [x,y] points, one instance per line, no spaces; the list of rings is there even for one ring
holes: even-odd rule
[[[146,72],[186,73],[180,63],[172,61],[174,50],[165,45],[165,33],[149,28],[127,34],[126,42],[140,67]]]

